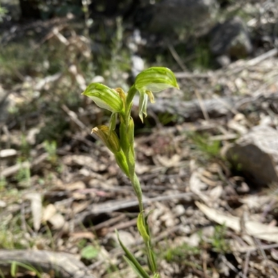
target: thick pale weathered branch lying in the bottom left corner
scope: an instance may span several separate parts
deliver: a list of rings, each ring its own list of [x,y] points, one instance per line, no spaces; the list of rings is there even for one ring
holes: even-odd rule
[[[51,273],[60,278],[96,278],[90,270],[72,254],[41,250],[0,250],[0,269],[10,272],[10,265],[24,263],[39,272]],[[19,270],[24,270],[20,268]]]

